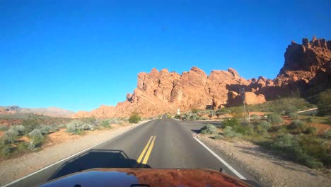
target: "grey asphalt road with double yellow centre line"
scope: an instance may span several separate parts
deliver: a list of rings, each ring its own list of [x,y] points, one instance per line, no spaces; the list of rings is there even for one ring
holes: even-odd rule
[[[194,140],[194,133],[203,123],[182,122],[173,119],[152,120],[93,147],[71,159],[59,162],[32,176],[13,183],[11,186],[37,186],[57,177],[91,168],[145,167],[145,168],[209,168],[235,176],[211,152]],[[208,146],[208,145],[207,145]],[[212,147],[209,147],[212,149]],[[65,151],[65,150],[64,150]],[[258,186],[249,172],[226,158],[221,152],[216,154],[245,176],[246,182]]]

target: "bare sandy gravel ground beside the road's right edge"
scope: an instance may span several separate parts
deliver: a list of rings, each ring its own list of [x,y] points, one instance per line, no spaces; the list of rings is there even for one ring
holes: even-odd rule
[[[251,142],[213,140],[209,135],[199,135],[198,138],[216,152],[232,157],[263,186],[330,186],[330,174],[275,157]]]

